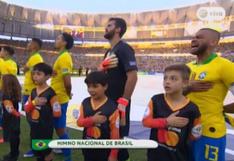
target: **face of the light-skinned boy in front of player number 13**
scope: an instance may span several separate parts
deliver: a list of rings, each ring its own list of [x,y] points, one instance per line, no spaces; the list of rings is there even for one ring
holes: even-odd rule
[[[167,71],[164,74],[163,87],[166,94],[172,94],[177,92],[183,92],[183,88],[187,85],[187,82],[183,80],[179,71]]]

